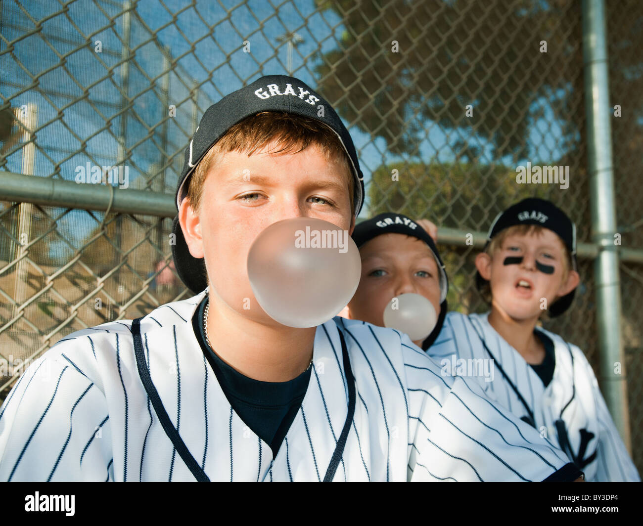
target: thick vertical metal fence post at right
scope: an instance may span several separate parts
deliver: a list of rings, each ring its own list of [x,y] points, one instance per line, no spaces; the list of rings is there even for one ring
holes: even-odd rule
[[[607,30],[603,0],[583,0],[583,69],[592,240],[599,247],[599,253],[594,260],[594,280],[601,388],[620,435],[631,451],[626,364],[621,338],[619,253],[614,237],[615,192]],[[620,364],[620,371],[617,364]]]

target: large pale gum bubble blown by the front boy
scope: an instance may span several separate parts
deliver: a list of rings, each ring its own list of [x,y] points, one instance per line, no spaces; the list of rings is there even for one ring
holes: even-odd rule
[[[331,320],[359,285],[361,259],[347,230],[296,217],[271,224],[248,253],[255,298],[276,322],[303,329]]]

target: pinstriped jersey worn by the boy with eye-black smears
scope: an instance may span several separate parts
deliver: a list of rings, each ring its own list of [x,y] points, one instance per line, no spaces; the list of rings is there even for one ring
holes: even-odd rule
[[[493,380],[475,376],[487,397],[518,417],[533,418],[536,429],[565,451],[586,480],[640,480],[583,352],[538,327],[536,330],[554,343],[556,357],[554,377],[545,387],[521,354],[491,327],[487,316],[447,314],[444,328],[428,353],[446,368],[453,362],[454,350],[455,358],[465,361],[493,358]]]

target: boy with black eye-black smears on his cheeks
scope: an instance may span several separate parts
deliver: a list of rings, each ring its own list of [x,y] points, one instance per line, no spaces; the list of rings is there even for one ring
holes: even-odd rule
[[[559,316],[574,298],[574,223],[544,199],[513,204],[493,222],[476,268],[491,310],[446,316],[428,350],[443,374],[493,359],[491,381],[473,375],[487,397],[556,444],[586,480],[640,480],[581,349],[536,325],[547,307]]]

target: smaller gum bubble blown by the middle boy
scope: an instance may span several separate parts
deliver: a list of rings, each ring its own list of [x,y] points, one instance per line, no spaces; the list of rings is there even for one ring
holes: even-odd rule
[[[384,309],[385,327],[406,332],[412,341],[424,340],[431,334],[437,319],[437,313],[431,302],[415,293],[401,294],[392,298]]]

